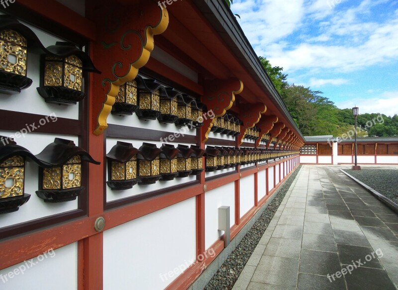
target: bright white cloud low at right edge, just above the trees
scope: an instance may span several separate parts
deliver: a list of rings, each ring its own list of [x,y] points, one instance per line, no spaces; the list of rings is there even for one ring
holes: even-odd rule
[[[387,116],[398,114],[398,92],[384,92],[380,96],[372,98],[352,98],[336,102],[335,105],[341,109],[359,107],[359,113],[382,113]]]

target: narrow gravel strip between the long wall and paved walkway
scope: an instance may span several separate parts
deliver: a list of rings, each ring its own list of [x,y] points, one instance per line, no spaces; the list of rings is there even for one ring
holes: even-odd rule
[[[274,217],[275,212],[278,210],[278,207],[281,204],[283,198],[285,197],[290,186],[295,180],[300,168],[301,165],[299,165],[297,170],[282,185],[278,194],[270,202],[270,204],[268,204],[267,208],[264,210],[260,218],[243,237],[242,241],[239,243],[236,249],[232,251],[227,260],[221,265],[217,273],[214,274],[213,278],[211,278],[210,282],[204,288],[205,290],[232,289],[236,280],[238,280],[240,273],[245,267],[247,261],[252,255],[254,249],[256,248],[258,242],[260,241],[265,230],[267,229],[268,224]]]

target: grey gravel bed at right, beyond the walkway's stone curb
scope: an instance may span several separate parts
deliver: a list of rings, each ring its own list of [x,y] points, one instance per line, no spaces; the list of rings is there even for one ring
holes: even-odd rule
[[[398,170],[374,168],[344,170],[375,191],[398,203]]]

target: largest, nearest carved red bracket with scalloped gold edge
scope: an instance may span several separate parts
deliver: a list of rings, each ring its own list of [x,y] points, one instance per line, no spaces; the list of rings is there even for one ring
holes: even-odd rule
[[[106,130],[106,119],[119,93],[119,86],[132,81],[148,62],[154,48],[154,35],[169,24],[166,8],[155,1],[134,0],[123,5],[114,1],[92,1],[97,27],[94,63],[102,72],[93,75],[93,133]],[[128,3],[126,1],[126,3]]]

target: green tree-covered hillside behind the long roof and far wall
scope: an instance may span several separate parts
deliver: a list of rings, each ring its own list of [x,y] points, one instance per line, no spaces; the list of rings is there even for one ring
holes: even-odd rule
[[[284,100],[289,112],[304,136],[341,136],[353,129],[352,108],[339,109],[322,92],[289,84],[283,68],[272,67],[266,58],[260,62]],[[386,116],[382,112],[360,114],[357,118],[358,136],[398,136],[398,115]]]

